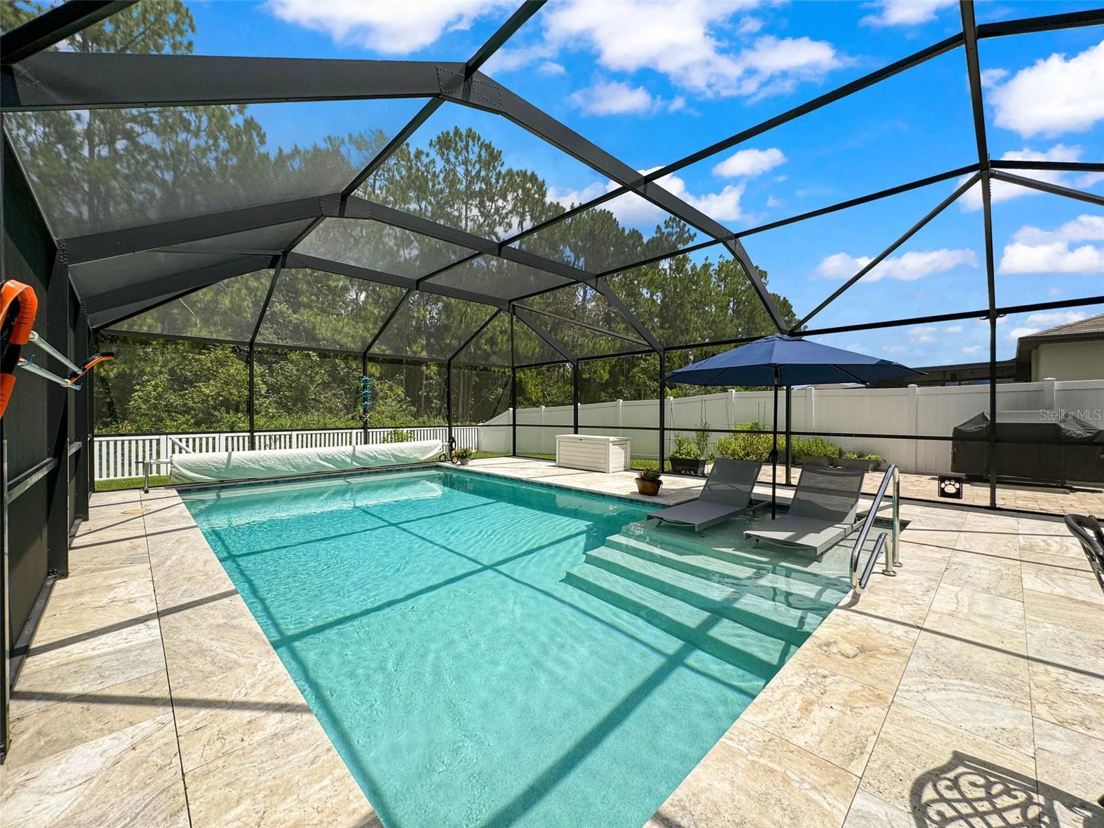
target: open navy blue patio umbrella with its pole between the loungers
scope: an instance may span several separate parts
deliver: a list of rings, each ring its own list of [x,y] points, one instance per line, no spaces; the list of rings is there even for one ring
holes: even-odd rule
[[[694,362],[665,379],[688,385],[774,386],[774,438],[771,449],[771,517],[775,514],[775,477],[778,460],[778,389],[828,382],[875,382],[915,376],[923,371],[892,360],[868,357],[841,348],[776,333],[731,351]]]

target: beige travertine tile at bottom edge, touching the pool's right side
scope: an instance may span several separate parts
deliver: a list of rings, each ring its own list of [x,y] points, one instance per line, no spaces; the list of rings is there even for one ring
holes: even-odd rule
[[[737,720],[646,828],[839,828],[858,778]]]

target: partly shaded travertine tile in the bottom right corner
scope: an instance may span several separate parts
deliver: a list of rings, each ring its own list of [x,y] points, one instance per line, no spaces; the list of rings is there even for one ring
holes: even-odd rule
[[[1039,796],[1062,828],[1104,825],[1104,741],[1037,719]]]

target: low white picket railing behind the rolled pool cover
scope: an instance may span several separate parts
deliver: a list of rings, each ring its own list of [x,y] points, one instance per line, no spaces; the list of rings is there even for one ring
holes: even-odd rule
[[[380,445],[388,442],[392,428],[320,428],[302,432],[257,432],[258,449],[329,448],[332,446]],[[448,439],[443,425],[405,428],[414,439]],[[457,448],[479,448],[478,426],[455,426],[453,438]],[[203,434],[105,435],[95,440],[97,480],[120,480],[141,477],[146,460],[164,460],[174,454],[190,452],[245,452],[250,448],[248,432],[208,432]]]

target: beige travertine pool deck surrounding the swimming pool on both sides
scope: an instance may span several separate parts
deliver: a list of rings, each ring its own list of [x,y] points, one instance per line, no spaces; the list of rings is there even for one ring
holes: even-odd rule
[[[471,469],[636,497],[631,473]],[[660,505],[700,487],[666,480]],[[0,826],[379,826],[177,493],[91,511],[15,686]],[[1104,826],[1080,548],[1053,518],[902,512],[904,567],[829,615],[648,828]]]

